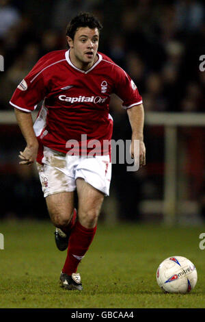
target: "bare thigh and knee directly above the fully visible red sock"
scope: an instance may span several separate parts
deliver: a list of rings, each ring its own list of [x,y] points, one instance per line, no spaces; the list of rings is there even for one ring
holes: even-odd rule
[[[77,194],[79,200],[79,221],[85,227],[96,225],[104,194],[78,177]]]

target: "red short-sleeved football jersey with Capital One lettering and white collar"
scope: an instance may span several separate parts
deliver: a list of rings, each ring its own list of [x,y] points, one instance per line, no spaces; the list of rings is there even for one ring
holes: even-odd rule
[[[131,77],[107,55],[98,52],[97,62],[83,71],[72,64],[69,53],[52,51],[40,58],[10,101],[25,112],[32,112],[42,101],[33,125],[36,136],[40,145],[63,153],[72,149],[66,147],[68,140],[77,140],[81,149],[82,134],[86,145],[91,140],[101,145],[103,140],[111,140],[111,93],[122,99],[124,108],[142,103]]]

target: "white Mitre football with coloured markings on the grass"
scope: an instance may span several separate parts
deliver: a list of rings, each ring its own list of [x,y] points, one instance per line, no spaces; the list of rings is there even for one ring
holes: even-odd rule
[[[197,270],[185,257],[169,257],[156,270],[156,281],[165,293],[189,293],[197,282]]]

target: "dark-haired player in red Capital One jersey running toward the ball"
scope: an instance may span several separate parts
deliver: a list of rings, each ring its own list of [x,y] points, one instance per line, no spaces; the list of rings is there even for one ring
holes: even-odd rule
[[[139,163],[146,163],[142,99],[131,77],[98,52],[102,25],[80,13],[66,30],[69,49],[52,51],[33,66],[16,88],[10,104],[27,143],[20,164],[37,162],[42,190],[59,250],[68,247],[61,286],[81,290],[79,262],[90,247],[111,180],[113,119],[111,93],[122,99],[132,128],[131,155],[139,140]],[[31,112],[42,101],[33,125]],[[96,147],[94,149],[94,147]],[[92,153],[92,151],[95,153]],[[78,210],[74,208],[74,190]]]

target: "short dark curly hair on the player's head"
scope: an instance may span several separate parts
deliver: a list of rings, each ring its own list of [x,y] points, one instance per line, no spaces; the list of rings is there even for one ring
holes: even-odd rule
[[[102,25],[98,18],[89,12],[80,12],[77,16],[72,18],[70,23],[66,28],[66,36],[69,36],[72,40],[74,39],[74,34],[80,27],[89,27],[90,29],[98,28],[98,31],[102,29]]]

